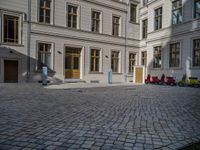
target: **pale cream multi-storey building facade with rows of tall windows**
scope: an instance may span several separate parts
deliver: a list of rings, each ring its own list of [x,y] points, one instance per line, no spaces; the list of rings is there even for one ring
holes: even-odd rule
[[[199,0],[0,0],[0,82],[200,78],[199,18]]]

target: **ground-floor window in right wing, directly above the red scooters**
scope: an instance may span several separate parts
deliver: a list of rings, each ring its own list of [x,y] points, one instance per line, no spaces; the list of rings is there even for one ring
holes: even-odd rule
[[[161,67],[161,46],[154,47],[153,53],[153,67],[160,68]]]

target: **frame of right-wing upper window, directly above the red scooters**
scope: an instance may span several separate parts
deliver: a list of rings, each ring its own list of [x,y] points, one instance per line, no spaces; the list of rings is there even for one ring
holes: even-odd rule
[[[158,14],[156,15],[156,11],[159,11],[161,10],[161,14]],[[156,19],[158,19],[158,27],[156,28]],[[154,30],[157,31],[157,30],[160,30],[162,29],[162,26],[163,26],[163,6],[160,6],[156,9],[154,9]]]

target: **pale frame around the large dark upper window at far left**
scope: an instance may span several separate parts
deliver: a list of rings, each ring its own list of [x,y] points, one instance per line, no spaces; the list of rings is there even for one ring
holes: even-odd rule
[[[4,42],[4,16],[11,16],[11,17],[17,17],[18,18],[18,40],[17,42]],[[8,11],[2,11],[1,13],[1,43],[3,44],[11,44],[11,45],[21,45],[23,43],[23,19],[22,19],[22,14],[19,13],[14,13],[14,12],[8,12]]]

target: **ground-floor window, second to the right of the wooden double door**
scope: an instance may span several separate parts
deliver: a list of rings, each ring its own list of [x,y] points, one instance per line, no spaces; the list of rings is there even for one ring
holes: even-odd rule
[[[119,72],[119,52],[111,53],[111,69],[113,72]]]

